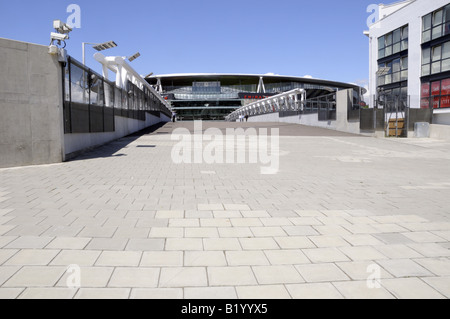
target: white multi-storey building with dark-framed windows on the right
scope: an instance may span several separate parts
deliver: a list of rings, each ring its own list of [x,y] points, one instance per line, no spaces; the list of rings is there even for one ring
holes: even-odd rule
[[[370,106],[434,109],[450,124],[450,2],[407,0],[379,5],[370,40]]]

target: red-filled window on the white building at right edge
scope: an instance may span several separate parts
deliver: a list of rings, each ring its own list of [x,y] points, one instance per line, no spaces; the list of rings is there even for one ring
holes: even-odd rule
[[[420,107],[450,108],[450,79],[422,83]]]

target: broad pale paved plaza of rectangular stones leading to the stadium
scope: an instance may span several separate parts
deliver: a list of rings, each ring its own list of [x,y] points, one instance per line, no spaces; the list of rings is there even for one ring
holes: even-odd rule
[[[251,126],[277,174],[175,164],[193,123],[0,169],[0,298],[450,297],[449,142],[203,123]]]

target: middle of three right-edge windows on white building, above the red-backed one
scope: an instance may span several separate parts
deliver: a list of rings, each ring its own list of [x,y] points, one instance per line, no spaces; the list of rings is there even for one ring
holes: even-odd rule
[[[450,71],[450,41],[422,50],[422,76]]]

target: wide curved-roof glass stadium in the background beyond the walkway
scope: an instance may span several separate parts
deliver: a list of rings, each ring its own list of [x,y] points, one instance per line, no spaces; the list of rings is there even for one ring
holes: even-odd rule
[[[241,106],[293,89],[311,99],[353,88],[355,84],[273,74],[170,74],[146,79],[170,102],[181,120],[224,120]]]

